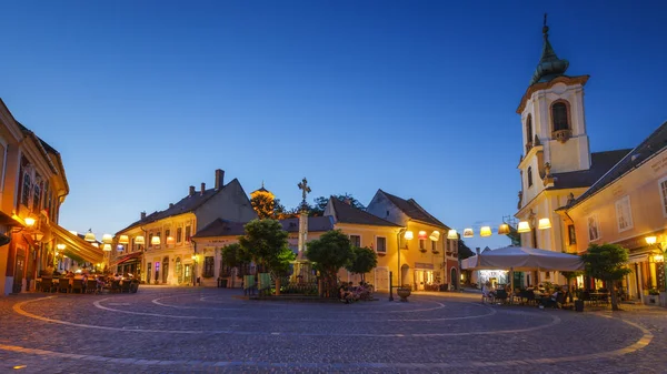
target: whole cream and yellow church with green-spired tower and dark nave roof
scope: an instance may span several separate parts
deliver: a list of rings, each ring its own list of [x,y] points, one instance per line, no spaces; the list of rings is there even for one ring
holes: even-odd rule
[[[515,216],[522,223],[522,246],[576,252],[574,223],[556,210],[584,194],[630,150],[590,152],[584,103],[589,75],[566,74],[569,62],[558,58],[548,31],[545,24],[541,58],[517,109],[524,149]],[[515,275],[516,284],[542,281],[566,283],[552,272]]]

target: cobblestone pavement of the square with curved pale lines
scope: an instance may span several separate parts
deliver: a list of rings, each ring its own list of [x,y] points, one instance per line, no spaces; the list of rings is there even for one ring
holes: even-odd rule
[[[666,373],[667,311],[576,313],[425,293],[246,301],[238,290],[0,297],[0,373]]]

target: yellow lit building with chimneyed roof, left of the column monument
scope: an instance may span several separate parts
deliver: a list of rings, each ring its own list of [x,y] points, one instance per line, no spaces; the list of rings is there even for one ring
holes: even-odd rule
[[[215,256],[192,240],[200,228],[218,219],[248,222],[257,218],[240,182],[223,183],[216,170],[215,186],[205,183],[163,211],[141,213],[140,220],[116,233],[112,272],[131,273],[149,284],[193,285],[213,277]],[[199,283],[197,283],[199,281]]]

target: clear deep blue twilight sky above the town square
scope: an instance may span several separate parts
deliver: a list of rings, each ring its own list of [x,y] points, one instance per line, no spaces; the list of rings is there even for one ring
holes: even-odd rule
[[[58,149],[60,223],[116,232],[213,170],[287,205],[378,188],[461,230],[516,211],[542,13],[593,151],[667,120],[659,1],[3,1],[0,98]],[[468,240],[504,245],[502,236]]]

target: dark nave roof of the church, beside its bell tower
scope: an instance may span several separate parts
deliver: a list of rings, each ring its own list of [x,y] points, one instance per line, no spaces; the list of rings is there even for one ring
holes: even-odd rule
[[[631,150],[616,150],[590,153],[590,169],[554,173],[554,186],[547,190],[564,190],[588,188],[596,183],[615,164],[625,158]]]

